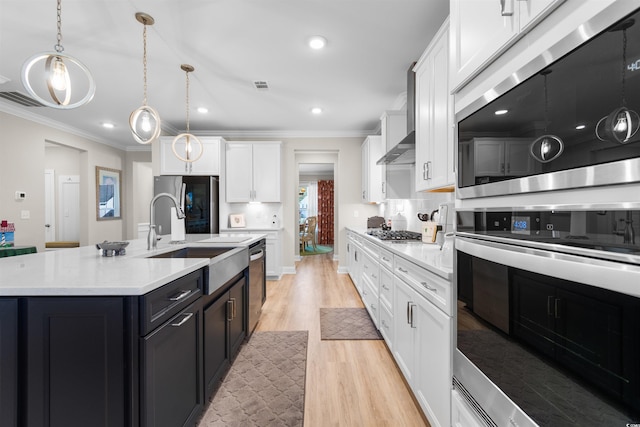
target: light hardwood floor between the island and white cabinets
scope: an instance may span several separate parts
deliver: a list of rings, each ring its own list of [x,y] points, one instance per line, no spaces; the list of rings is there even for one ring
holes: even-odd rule
[[[363,307],[333,254],[303,257],[267,282],[256,331],[309,331],[305,427],[428,426],[384,341],[320,340],[321,307]]]

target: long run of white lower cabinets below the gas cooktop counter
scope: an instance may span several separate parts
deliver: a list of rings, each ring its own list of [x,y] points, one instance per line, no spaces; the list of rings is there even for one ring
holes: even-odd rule
[[[451,283],[347,232],[349,275],[432,427],[451,425]],[[461,424],[465,425],[465,424]]]

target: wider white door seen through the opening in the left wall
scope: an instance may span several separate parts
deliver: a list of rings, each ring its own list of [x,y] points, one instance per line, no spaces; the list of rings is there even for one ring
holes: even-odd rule
[[[61,175],[59,179],[59,239],[80,241],[80,177]]]

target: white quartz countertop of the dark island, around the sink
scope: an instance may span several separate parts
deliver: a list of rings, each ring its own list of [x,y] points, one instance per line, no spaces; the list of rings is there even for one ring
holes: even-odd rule
[[[150,251],[146,239],[130,240],[125,255],[111,257],[92,245],[0,258],[0,296],[143,295],[209,265],[207,258],[149,256],[186,246],[248,246],[265,237],[252,233],[243,242],[212,243],[218,236],[238,234],[189,234],[181,244],[162,236],[158,248]]]

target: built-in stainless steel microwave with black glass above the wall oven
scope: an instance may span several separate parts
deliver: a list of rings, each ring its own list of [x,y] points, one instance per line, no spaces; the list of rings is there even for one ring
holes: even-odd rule
[[[458,197],[640,182],[640,9],[548,57],[529,64],[544,68],[528,79],[456,117]]]

